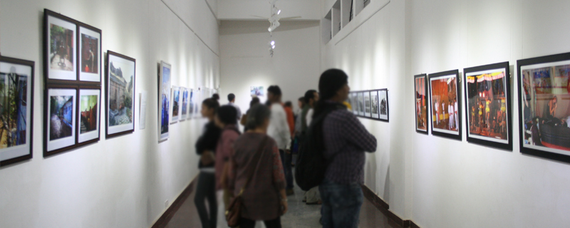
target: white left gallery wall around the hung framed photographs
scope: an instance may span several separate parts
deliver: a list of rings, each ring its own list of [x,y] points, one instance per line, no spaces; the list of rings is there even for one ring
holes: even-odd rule
[[[2,55],[36,63],[33,159],[0,168],[0,227],[150,227],[198,173],[194,143],[204,120],[171,125],[170,138],[157,142],[157,64],[172,64],[173,86],[219,85],[219,33],[206,1],[1,0],[0,5]],[[100,142],[43,157],[44,8],[100,28],[103,51],[136,59],[135,133],[105,139],[102,108]],[[143,90],[147,118],[140,130]]]

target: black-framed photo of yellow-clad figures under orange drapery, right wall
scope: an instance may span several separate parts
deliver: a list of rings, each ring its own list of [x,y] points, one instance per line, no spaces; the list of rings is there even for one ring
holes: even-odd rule
[[[463,69],[467,142],[512,150],[509,62]],[[447,104],[452,127],[457,103]]]

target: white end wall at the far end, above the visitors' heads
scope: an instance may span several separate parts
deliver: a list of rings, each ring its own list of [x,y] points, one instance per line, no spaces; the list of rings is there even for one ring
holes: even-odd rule
[[[274,56],[269,56],[267,21],[222,21],[221,52],[222,100],[236,95],[242,112],[249,109],[250,86],[279,85],[283,101],[296,100],[306,90],[318,88],[320,76],[320,37],[318,21],[283,21],[273,33]],[[266,92],[266,91],[265,91]],[[265,100],[261,98],[261,100]],[[222,102],[222,103],[224,103]]]

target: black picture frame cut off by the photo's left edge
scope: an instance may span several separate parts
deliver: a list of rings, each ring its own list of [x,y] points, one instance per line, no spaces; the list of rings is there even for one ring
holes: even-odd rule
[[[29,79],[28,79],[28,83],[29,83],[29,93],[30,95],[26,95],[27,96],[27,101],[28,103],[26,106],[28,106],[28,109],[30,110],[30,116],[29,116],[29,127],[30,127],[30,131],[29,133],[26,134],[26,136],[28,136],[28,154],[26,155],[21,155],[21,156],[17,156],[17,157],[11,157],[9,159],[6,160],[1,160],[0,161],[0,167],[4,167],[6,165],[12,165],[14,163],[17,162],[22,162],[25,160],[30,160],[33,157],[33,89],[34,89],[34,73],[35,73],[35,63],[33,61],[27,61],[27,60],[23,60],[23,59],[19,59],[19,58],[10,58],[10,57],[6,57],[6,56],[0,56],[0,62],[1,63],[9,63],[9,64],[14,64],[14,65],[21,65],[21,66],[28,66],[31,68],[31,74],[29,75]]]

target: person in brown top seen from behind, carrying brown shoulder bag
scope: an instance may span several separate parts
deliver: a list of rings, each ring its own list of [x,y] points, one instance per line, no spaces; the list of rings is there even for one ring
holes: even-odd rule
[[[267,228],[281,228],[281,215],[287,212],[279,145],[266,135],[270,115],[271,111],[265,105],[254,105],[249,109],[249,130],[237,138],[234,156],[230,158],[233,165],[229,187],[234,190],[234,195],[243,190],[240,228],[253,228],[259,220],[264,221]],[[257,155],[259,160],[254,160],[257,152],[261,152]]]

